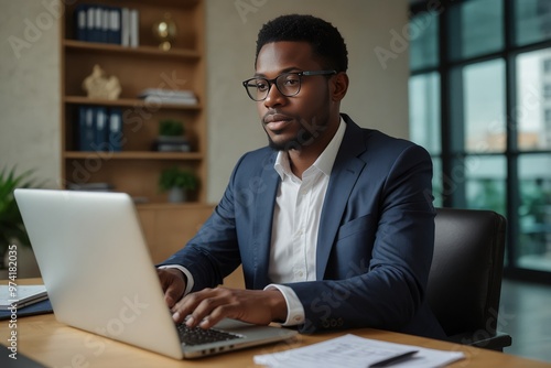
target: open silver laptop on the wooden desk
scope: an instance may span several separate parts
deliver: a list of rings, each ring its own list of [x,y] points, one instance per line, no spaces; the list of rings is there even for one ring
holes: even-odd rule
[[[182,343],[134,205],[123,193],[15,190],[57,321],[176,359],[274,343],[296,332],[224,320]],[[182,218],[185,221],[185,218]],[[190,332],[186,332],[190,335]],[[191,337],[187,337],[191,338]],[[215,338],[215,342],[199,343]]]

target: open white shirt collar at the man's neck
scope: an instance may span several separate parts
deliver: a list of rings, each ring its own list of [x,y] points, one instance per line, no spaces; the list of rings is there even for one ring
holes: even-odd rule
[[[338,153],[338,149],[341,148],[341,143],[343,142],[343,137],[346,130],[346,123],[341,118],[341,122],[338,125],[338,129],[333,136],[329,144],[323,150],[322,154],[315,160],[312,166],[315,166],[317,170],[323,172],[325,175],[329,176],[331,171],[333,169],[333,164],[335,163],[335,159]],[[278,172],[281,180],[284,178],[285,175],[293,177],[291,171],[291,164],[289,162],[289,153],[287,151],[279,151],[278,156],[276,158],[276,163],[273,164],[273,169]],[[310,167],[309,167],[310,170]]]

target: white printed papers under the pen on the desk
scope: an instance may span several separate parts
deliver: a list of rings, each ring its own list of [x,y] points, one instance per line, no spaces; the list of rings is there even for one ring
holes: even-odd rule
[[[465,357],[462,351],[445,351],[419,346],[380,342],[345,335],[323,343],[281,353],[257,355],[255,364],[270,368],[353,368],[369,367],[407,351],[417,350],[389,367],[443,367]]]

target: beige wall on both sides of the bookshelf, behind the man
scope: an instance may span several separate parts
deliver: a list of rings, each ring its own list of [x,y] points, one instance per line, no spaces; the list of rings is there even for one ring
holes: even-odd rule
[[[56,187],[60,45],[52,3],[55,0],[0,0],[0,166],[36,169]],[[222,196],[236,160],[266,144],[255,105],[240,82],[253,73],[259,28],[291,12],[325,18],[343,33],[352,80],[343,111],[363,127],[408,136],[408,53],[397,53],[385,68],[374,51],[391,50],[390,31],[401,33],[407,23],[407,0],[206,0],[209,202]],[[13,36],[29,41],[20,55],[9,43]]]

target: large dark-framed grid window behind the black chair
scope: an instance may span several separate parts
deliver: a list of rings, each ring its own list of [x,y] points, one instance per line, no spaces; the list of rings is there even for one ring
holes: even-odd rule
[[[435,205],[508,219],[508,274],[551,280],[551,1],[415,3],[410,138]]]

